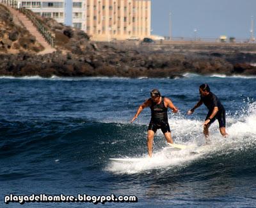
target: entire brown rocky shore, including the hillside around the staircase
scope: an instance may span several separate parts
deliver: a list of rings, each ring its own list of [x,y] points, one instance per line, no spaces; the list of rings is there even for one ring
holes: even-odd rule
[[[42,48],[33,37],[27,36],[24,45],[24,28],[15,25],[10,15],[0,15],[0,76],[172,78],[184,73],[256,76],[256,44],[93,43],[83,31],[52,19],[42,20],[56,34],[57,51],[52,54],[38,55]]]

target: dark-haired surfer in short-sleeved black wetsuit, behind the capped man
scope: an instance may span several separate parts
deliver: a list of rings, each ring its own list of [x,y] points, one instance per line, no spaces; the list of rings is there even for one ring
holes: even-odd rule
[[[210,91],[208,84],[202,84],[199,87],[200,100],[195,105],[194,108],[188,111],[188,115],[194,113],[195,109],[201,106],[203,103],[208,108],[208,113],[204,122],[204,135],[208,143],[209,137],[209,127],[217,119],[219,122],[220,133],[222,136],[227,136],[226,132],[226,118],[225,118],[225,108],[221,104],[220,100],[214,93]]]

